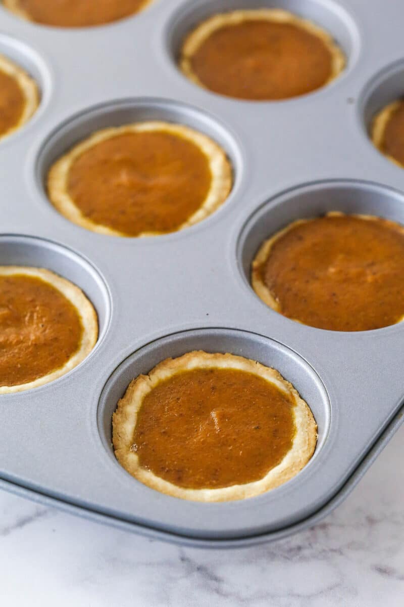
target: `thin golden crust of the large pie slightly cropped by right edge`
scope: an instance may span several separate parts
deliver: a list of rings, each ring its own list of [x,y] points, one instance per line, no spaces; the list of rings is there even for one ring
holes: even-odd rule
[[[340,211],[330,211],[325,214],[325,217],[343,217],[345,215],[346,215],[346,213],[342,213]],[[376,221],[376,222],[378,220],[380,220],[380,217],[376,217],[375,215],[362,215],[362,214],[358,214],[358,213],[350,214],[350,217],[357,217],[359,219],[366,219],[368,221]],[[282,313],[280,303],[276,299],[276,297],[273,296],[273,294],[271,293],[270,289],[268,289],[265,282],[263,282],[262,266],[265,264],[265,262],[267,262],[268,257],[270,256],[270,253],[271,253],[271,249],[273,248],[273,246],[277,242],[277,240],[282,238],[282,236],[284,236],[287,232],[290,232],[292,229],[296,228],[298,225],[301,225],[302,223],[311,222],[314,219],[316,219],[316,218],[297,219],[296,221],[291,222],[285,228],[282,228],[279,231],[277,231],[275,234],[273,234],[273,236],[271,236],[270,238],[268,238],[267,240],[265,240],[262,243],[262,245],[260,246],[260,248],[257,251],[256,256],[253,259],[253,263],[251,263],[251,287],[253,287],[257,296],[260,299],[262,299],[262,301],[265,304],[267,304],[270,308],[272,308],[276,312]],[[404,234],[404,226],[400,226],[398,223],[392,222],[392,221],[389,221],[386,219],[383,219],[383,222],[385,222],[386,224],[391,224],[395,228],[397,228],[397,226],[399,226],[401,228],[401,231]],[[294,322],[301,322],[299,319],[292,319],[292,320],[294,320]],[[404,317],[401,318],[398,322],[402,322],[402,320],[404,320]]]

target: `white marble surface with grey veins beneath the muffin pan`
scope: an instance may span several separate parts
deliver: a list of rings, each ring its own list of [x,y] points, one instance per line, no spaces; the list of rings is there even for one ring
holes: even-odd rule
[[[404,427],[323,523],[236,551],[146,540],[0,492],[0,605],[403,607],[403,445]]]

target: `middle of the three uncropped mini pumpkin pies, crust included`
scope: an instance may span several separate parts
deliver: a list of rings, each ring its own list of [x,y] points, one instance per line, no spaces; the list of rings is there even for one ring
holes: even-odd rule
[[[98,131],[48,174],[48,196],[59,212],[112,236],[187,228],[216,211],[231,186],[231,165],[217,143],[160,121]]]

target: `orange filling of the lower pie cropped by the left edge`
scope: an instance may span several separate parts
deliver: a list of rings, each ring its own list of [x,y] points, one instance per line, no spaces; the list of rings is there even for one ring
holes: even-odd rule
[[[55,287],[33,276],[0,276],[0,386],[26,384],[78,350],[78,311]]]

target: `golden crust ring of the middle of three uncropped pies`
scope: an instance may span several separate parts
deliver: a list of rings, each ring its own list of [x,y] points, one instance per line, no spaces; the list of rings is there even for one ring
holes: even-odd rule
[[[123,232],[108,228],[108,226],[99,223],[94,223],[82,214],[81,210],[75,205],[75,202],[68,194],[68,173],[71,164],[73,164],[73,161],[75,161],[76,158],[96,144],[101,143],[101,141],[116,137],[117,135],[145,131],[163,131],[177,135],[177,137],[183,137],[194,143],[208,158],[212,175],[210,191],[200,208],[197,209],[186,222],[182,223],[177,230],[188,228],[216,211],[216,209],[225,202],[233,185],[231,164],[225,155],[225,152],[215,141],[210,137],[207,137],[207,135],[194,131],[183,124],[171,124],[162,121],[139,122],[96,131],[90,137],[70,149],[67,154],[59,158],[59,160],[51,166],[48,173],[48,195],[56,209],[71,222],[93,232],[107,234],[109,236],[128,237],[127,234],[124,234]],[[157,236],[160,233],[161,232],[142,232],[138,237]]]

